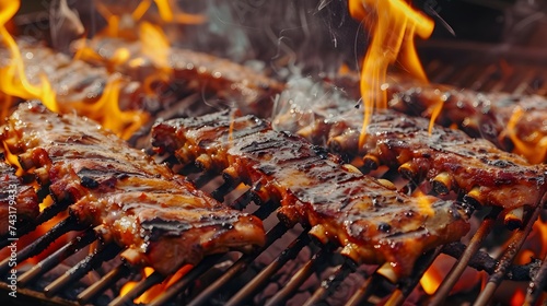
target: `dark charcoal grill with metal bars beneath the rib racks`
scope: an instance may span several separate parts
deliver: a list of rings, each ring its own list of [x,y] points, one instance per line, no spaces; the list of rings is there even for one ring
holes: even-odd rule
[[[420,51],[426,71],[433,83],[485,92],[539,95],[547,94],[547,71],[544,69],[547,67],[547,58],[544,54],[544,50],[531,48],[507,49],[490,44],[443,40],[424,43]],[[199,102],[199,98],[189,96],[181,103],[187,105],[191,104],[190,101]],[[175,164],[174,161],[166,162]],[[466,244],[453,243],[424,254],[409,278],[392,282],[393,280],[383,273],[382,267],[356,267],[352,262],[341,259],[336,246],[321,245],[312,240],[307,235],[309,228],[290,228],[280,223],[272,214],[279,203],[258,203],[258,197],[254,196],[253,189],[223,183],[219,177],[201,173],[194,166],[186,166],[177,172],[187,175],[198,188],[210,192],[218,200],[232,208],[251,211],[265,220],[267,244],[253,254],[231,252],[207,257],[160,293],[150,305],[249,305],[257,296],[266,295],[267,305],[282,305],[291,298],[299,299],[304,305],[400,305],[415,291],[423,273],[441,254],[454,257],[457,261],[437,292],[432,296],[424,295],[428,304],[443,304],[467,267],[488,273],[486,284],[476,292],[467,293],[468,299],[474,301],[476,305],[488,304],[500,284],[507,280],[527,284],[525,302],[528,305],[534,305],[546,289],[547,258],[532,259],[525,266],[512,263],[534,223],[546,212],[542,205],[526,213],[522,228],[513,232],[504,229],[507,238],[500,244],[504,247],[499,249],[496,256],[481,250],[481,247],[491,235],[492,228],[499,226],[496,222],[498,211],[477,212],[474,217],[480,225]],[[60,210],[54,205],[44,211],[37,221],[50,220],[58,215]],[[19,234],[33,231],[35,228],[20,228]],[[60,219],[45,235],[20,249],[18,260],[22,262],[44,252],[51,242],[66,236],[67,233],[73,238],[67,239],[68,243],[56,249],[53,255],[27,267],[28,269],[19,275],[16,299],[8,297],[10,289],[2,276],[0,290],[3,292],[0,301],[22,305],[130,305],[135,298],[165,280],[156,272],[141,276],[139,267],[121,262],[119,254],[124,250],[114,244],[103,243],[98,231],[100,228],[82,228],[70,216]],[[0,247],[5,249],[8,245],[9,242],[1,242]],[[309,254],[306,260],[299,259],[299,254],[302,252]],[[269,256],[268,260],[264,259],[265,255]],[[5,275],[8,264],[8,259],[0,262],[0,274]],[[298,268],[283,274],[283,267],[290,264]],[[50,272],[60,266],[68,269],[61,273]],[[82,285],[81,280],[89,278],[90,271],[100,271],[98,279]],[[356,274],[360,275],[359,284],[350,285],[351,275]],[[322,278],[315,286],[306,285],[309,279],[318,278],[317,275]],[[121,295],[121,286],[129,281],[136,282],[135,286]],[[266,294],[272,283],[277,283],[279,287]],[[347,292],[348,286],[353,289],[351,293]],[[303,292],[306,294],[302,294]]]

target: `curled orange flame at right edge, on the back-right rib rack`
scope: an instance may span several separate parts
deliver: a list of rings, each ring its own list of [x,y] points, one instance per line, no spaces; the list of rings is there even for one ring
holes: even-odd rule
[[[524,110],[516,106],[502,134],[507,134],[514,144],[513,152],[523,155],[533,164],[540,164],[547,158],[547,137],[540,131],[532,133],[527,139],[520,139],[516,125],[523,120]]]

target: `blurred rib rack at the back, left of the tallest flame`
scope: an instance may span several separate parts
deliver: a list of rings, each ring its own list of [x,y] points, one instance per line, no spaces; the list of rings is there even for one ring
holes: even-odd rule
[[[102,37],[80,47],[82,59],[146,83],[151,75],[168,76],[168,82],[184,82],[197,93],[212,93],[245,113],[269,116],[272,97],[283,85],[249,68],[208,54],[170,48],[165,59],[151,58],[142,50],[141,40]],[[84,51],[82,51],[82,49]],[[118,50],[128,51],[128,59],[116,61]],[[165,62],[163,62],[165,61]]]

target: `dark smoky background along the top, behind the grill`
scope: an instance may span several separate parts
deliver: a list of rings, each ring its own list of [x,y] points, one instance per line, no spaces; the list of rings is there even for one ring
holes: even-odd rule
[[[106,25],[105,19],[97,13],[97,5],[119,15],[120,24],[130,27],[127,16],[140,2],[26,0],[22,3],[19,22],[34,24],[34,27],[23,27],[22,34],[43,34],[53,47],[68,50],[78,34],[71,19],[58,12],[63,1],[81,21],[89,37]],[[152,3],[142,19],[161,25],[173,46],[255,64],[280,76],[288,72],[334,72],[341,63],[358,69],[369,42],[360,23],[349,16],[347,0],[179,0],[172,3],[185,13],[207,19],[197,25],[166,23],[159,19]],[[411,1],[412,7],[435,20],[430,40],[512,45],[528,44],[531,39],[547,44],[542,37],[546,33],[542,30],[547,28],[546,3],[546,0]],[[420,47],[424,43],[418,39],[417,45]]]

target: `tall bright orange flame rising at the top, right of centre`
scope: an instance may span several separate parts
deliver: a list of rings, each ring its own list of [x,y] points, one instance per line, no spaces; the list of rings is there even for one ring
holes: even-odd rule
[[[361,95],[364,105],[364,120],[359,145],[366,138],[366,126],[374,107],[386,108],[385,83],[387,68],[399,58],[399,63],[415,78],[427,82],[414,43],[415,35],[428,38],[434,23],[403,0],[348,0],[351,16],[364,21],[372,32],[372,40],[364,56],[361,71]]]

